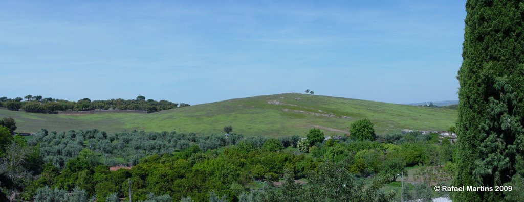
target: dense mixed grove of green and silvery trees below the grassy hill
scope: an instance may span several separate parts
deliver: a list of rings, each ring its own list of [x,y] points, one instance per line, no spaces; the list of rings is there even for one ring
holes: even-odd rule
[[[0,147],[0,197],[118,201],[128,197],[130,179],[136,201],[388,201],[399,193],[381,187],[400,172],[407,176],[407,166],[429,171],[452,162],[454,146],[438,134],[392,134],[379,141],[324,141],[322,135],[310,145],[319,132],[312,129],[314,136],[307,139],[274,139],[231,132],[42,129],[26,141],[2,126],[0,138],[7,143]],[[115,165],[132,169],[110,171]],[[426,185],[408,186],[405,199],[433,196],[424,190],[438,177],[427,176],[453,167],[444,168],[421,172]],[[307,183],[297,184],[297,179]],[[273,184],[277,181],[281,185]]]

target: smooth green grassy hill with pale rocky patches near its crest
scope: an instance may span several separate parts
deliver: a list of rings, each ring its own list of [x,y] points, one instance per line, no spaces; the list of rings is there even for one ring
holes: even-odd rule
[[[301,135],[312,127],[328,135],[341,135],[361,118],[369,118],[378,134],[402,128],[443,130],[454,125],[456,110],[424,108],[365,100],[287,93],[241,98],[188,106],[150,114],[108,113],[90,115],[34,114],[0,110],[11,116],[18,132],[99,128],[107,132],[124,129],[177,130],[204,134],[222,133],[232,125],[244,135]]]

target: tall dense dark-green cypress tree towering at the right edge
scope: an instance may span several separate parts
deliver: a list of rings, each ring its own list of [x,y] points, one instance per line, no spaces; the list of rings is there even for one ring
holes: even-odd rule
[[[524,174],[524,1],[468,0],[466,11],[454,184],[494,187]],[[453,193],[457,201],[503,197]]]

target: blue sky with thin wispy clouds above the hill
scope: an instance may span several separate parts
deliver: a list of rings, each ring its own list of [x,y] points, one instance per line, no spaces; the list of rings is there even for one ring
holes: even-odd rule
[[[0,97],[457,100],[464,4],[4,1]]]

